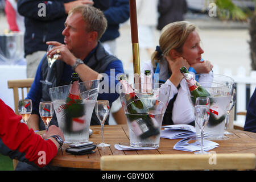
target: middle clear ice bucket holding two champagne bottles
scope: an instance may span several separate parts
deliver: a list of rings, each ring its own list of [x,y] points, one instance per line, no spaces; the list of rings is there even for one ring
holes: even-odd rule
[[[143,83],[129,85],[134,89],[135,94],[127,93],[124,86],[120,85],[119,97],[127,118],[130,146],[158,148],[160,129],[168,105],[171,86]],[[127,101],[128,97],[129,101]],[[146,112],[142,111],[145,108]]]

